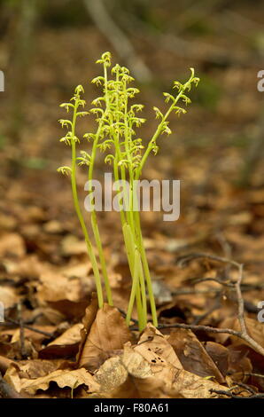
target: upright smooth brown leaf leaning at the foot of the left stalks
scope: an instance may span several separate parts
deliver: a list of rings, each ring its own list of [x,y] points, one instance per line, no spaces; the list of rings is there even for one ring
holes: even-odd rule
[[[120,311],[105,303],[104,307],[97,311],[96,319],[87,333],[79,356],[79,366],[89,370],[97,369],[109,358],[109,354],[123,349],[124,344],[130,339],[131,334]]]

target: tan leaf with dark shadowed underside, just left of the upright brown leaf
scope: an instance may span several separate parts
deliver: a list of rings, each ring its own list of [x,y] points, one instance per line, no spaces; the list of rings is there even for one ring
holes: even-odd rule
[[[82,323],[78,323],[68,328],[63,334],[50,342],[43,350],[38,353],[39,358],[70,358],[74,357],[81,342]]]

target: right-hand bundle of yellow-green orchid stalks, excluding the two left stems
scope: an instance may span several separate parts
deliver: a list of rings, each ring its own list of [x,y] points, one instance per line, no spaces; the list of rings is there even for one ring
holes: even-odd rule
[[[105,59],[109,64],[111,60],[110,53],[106,52],[98,63],[104,64]],[[112,68],[114,76],[113,80],[99,76],[93,80],[94,83],[102,84],[104,86],[104,96],[98,99],[99,106],[105,102],[105,130],[107,131],[107,138],[102,143],[103,150],[111,147],[113,153],[109,153],[105,157],[105,162],[113,162],[113,172],[115,180],[128,180],[129,189],[125,193],[126,212],[120,210],[121,224],[124,235],[125,247],[128,255],[128,264],[132,276],[132,289],[130,300],[128,304],[127,322],[131,318],[131,312],[136,299],[139,327],[144,327],[146,324],[146,293],[145,286],[148,290],[148,295],[151,304],[151,316],[154,326],[158,325],[157,313],[155,307],[154,295],[151,287],[151,274],[148,266],[147,257],[144,250],[144,240],[141,232],[140,216],[136,207],[136,190],[135,180],[141,176],[144,164],[151,153],[157,153],[159,147],[157,146],[157,139],[160,135],[167,133],[169,135],[171,130],[168,127],[168,116],[175,111],[176,114],[184,114],[186,110],[181,106],[177,106],[179,100],[182,100],[186,105],[190,103],[190,98],[186,96],[186,92],[190,91],[192,83],[198,84],[198,78],[194,76],[194,70],[190,69],[190,79],[182,84],[174,83],[174,88],[178,90],[178,94],[173,96],[169,93],[164,93],[166,102],[171,101],[167,113],[162,114],[158,107],[154,107],[156,117],[160,118],[159,125],[155,130],[151,140],[148,143],[144,153],[142,151],[144,146],[141,138],[135,138],[135,127],[140,127],[145,119],[137,116],[138,112],[143,110],[142,105],[134,104],[128,105],[131,98],[134,98],[139,92],[136,88],[129,87],[129,83],[134,79],[129,75],[128,68],[116,65]]]

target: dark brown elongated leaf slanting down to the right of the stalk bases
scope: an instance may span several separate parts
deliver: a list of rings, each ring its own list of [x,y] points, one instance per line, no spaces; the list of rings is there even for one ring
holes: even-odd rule
[[[185,371],[190,371],[198,376],[214,376],[216,381],[224,383],[218,367],[213,359],[207,354],[203,345],[191,330],[174,329],[167,339],[180,359]]]

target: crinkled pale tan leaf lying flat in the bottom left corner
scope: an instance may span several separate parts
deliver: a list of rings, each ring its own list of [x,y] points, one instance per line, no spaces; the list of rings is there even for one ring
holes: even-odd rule
[[[58,369],[45,376],[29,379],[19,378],[17,369],[11,366],[4,375],[4,379],[18,392],[24,391],[31,395],[34,395],[38,389],[49,389],[50,382],[56,382],[59,388],[69,387],[75,389],[80,385],[86,385],[89,392],[97,391],[99,388],[93,376],[84,368],[73,371]]]

